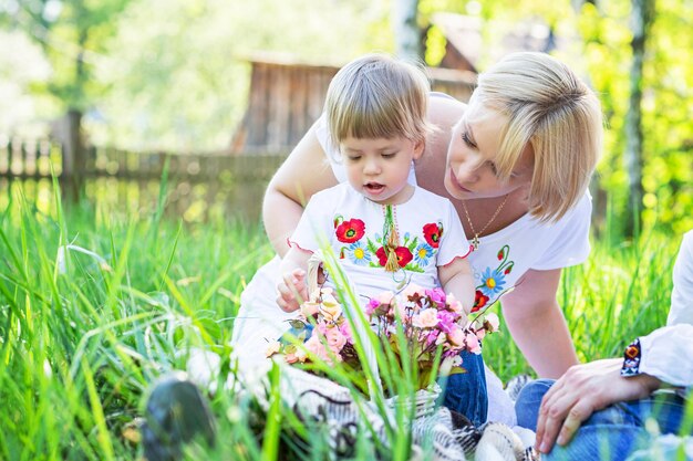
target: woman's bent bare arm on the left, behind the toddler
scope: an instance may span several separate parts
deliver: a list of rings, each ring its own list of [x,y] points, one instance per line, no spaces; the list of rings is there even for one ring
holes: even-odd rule
[[[313,193],[335,185],[337,178],[313,125],[279,167],[265,192],[265,232],[279,256],[289,251],[287,239],[301,218],[303,205]]]

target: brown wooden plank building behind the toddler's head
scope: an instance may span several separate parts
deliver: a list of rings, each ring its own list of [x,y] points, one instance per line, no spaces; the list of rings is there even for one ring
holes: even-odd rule
[[[231,140],[234,154],[289,153],[322,113],[339,66],[256,56],[248,108]],[[434,91],[468,101],[476,74],[428,67]]]

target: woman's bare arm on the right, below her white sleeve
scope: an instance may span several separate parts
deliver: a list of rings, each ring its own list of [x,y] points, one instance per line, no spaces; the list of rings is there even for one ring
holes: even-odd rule
[[[529,270],[503,297],[508,329],[539,377],[557,379],[578,363],[563,313],[556,301],[560,269]]]

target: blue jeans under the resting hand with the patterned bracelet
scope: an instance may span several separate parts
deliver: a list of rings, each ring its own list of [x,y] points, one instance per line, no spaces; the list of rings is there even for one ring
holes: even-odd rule
[[[519,426],[537,430],[541,398],[552,384],[554,380],[539,379],[523,388],[515,402]],[[567,447],[554,446],[541,460],[624,460],[651,442],[644,428],[647,419],[654,418],[662,434],[678,433],[684,407],[685,400],[673,394],[612,405],[592,413]]]

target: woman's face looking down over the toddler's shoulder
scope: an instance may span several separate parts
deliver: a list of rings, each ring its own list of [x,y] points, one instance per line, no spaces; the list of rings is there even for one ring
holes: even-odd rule
[[[479,104],[467,107],[453,127],[447,149],[445,188],[451,196],[467,200],[500,197],[531,182],[534,156],[527,146],[510,177],[501,181],[496,175],[495,159],[506,115]]]

